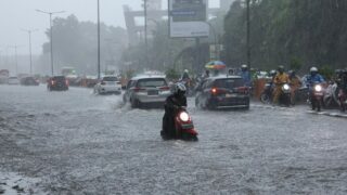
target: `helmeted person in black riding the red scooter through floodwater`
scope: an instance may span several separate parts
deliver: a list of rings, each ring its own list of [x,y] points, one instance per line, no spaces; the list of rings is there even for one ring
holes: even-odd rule
[[[174,86],[174,93],[165,101],[163,130],[160,131],[164,140],[176,138],[175,117],[181,107],[187,107],[185,91],[184,84],[178,82]]]

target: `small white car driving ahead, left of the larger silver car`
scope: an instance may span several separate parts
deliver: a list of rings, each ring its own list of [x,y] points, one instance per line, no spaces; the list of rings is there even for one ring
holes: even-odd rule
[[[94,86],[94,93],[98,94],[121,94],[121,84],[116,76],[104,76],[100,82]]]

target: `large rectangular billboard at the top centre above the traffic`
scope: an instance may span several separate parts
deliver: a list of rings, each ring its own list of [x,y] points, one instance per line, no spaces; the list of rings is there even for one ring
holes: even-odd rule
[[[169,0],[170,37],[208,37],[207,9],[207,0]]]

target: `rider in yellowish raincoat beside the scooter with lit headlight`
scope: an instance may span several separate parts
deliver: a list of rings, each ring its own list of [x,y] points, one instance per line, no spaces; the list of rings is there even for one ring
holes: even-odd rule
[[[274,91],[273,91],[273,104],[278,104],[279,103],[279,99],[280,95],[282,93],[282,86],[283,83],[290,83],[290,76],[284,73],[284,66],[279,66],[278,67],[278,74],[275,75],[274,79],[273,79],[273,83],[274,83]]]

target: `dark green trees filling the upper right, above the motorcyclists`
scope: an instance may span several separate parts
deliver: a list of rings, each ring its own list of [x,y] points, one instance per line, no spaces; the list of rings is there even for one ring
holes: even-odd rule
[[[246,9],[241,0],[224,21],[223,60],[246,62]],[[254,0],[250,5],[252,64],[271,69],[279,64],[308,68],[347,62],[346,0]],[[295,56],[295,57],[293,57]]]

